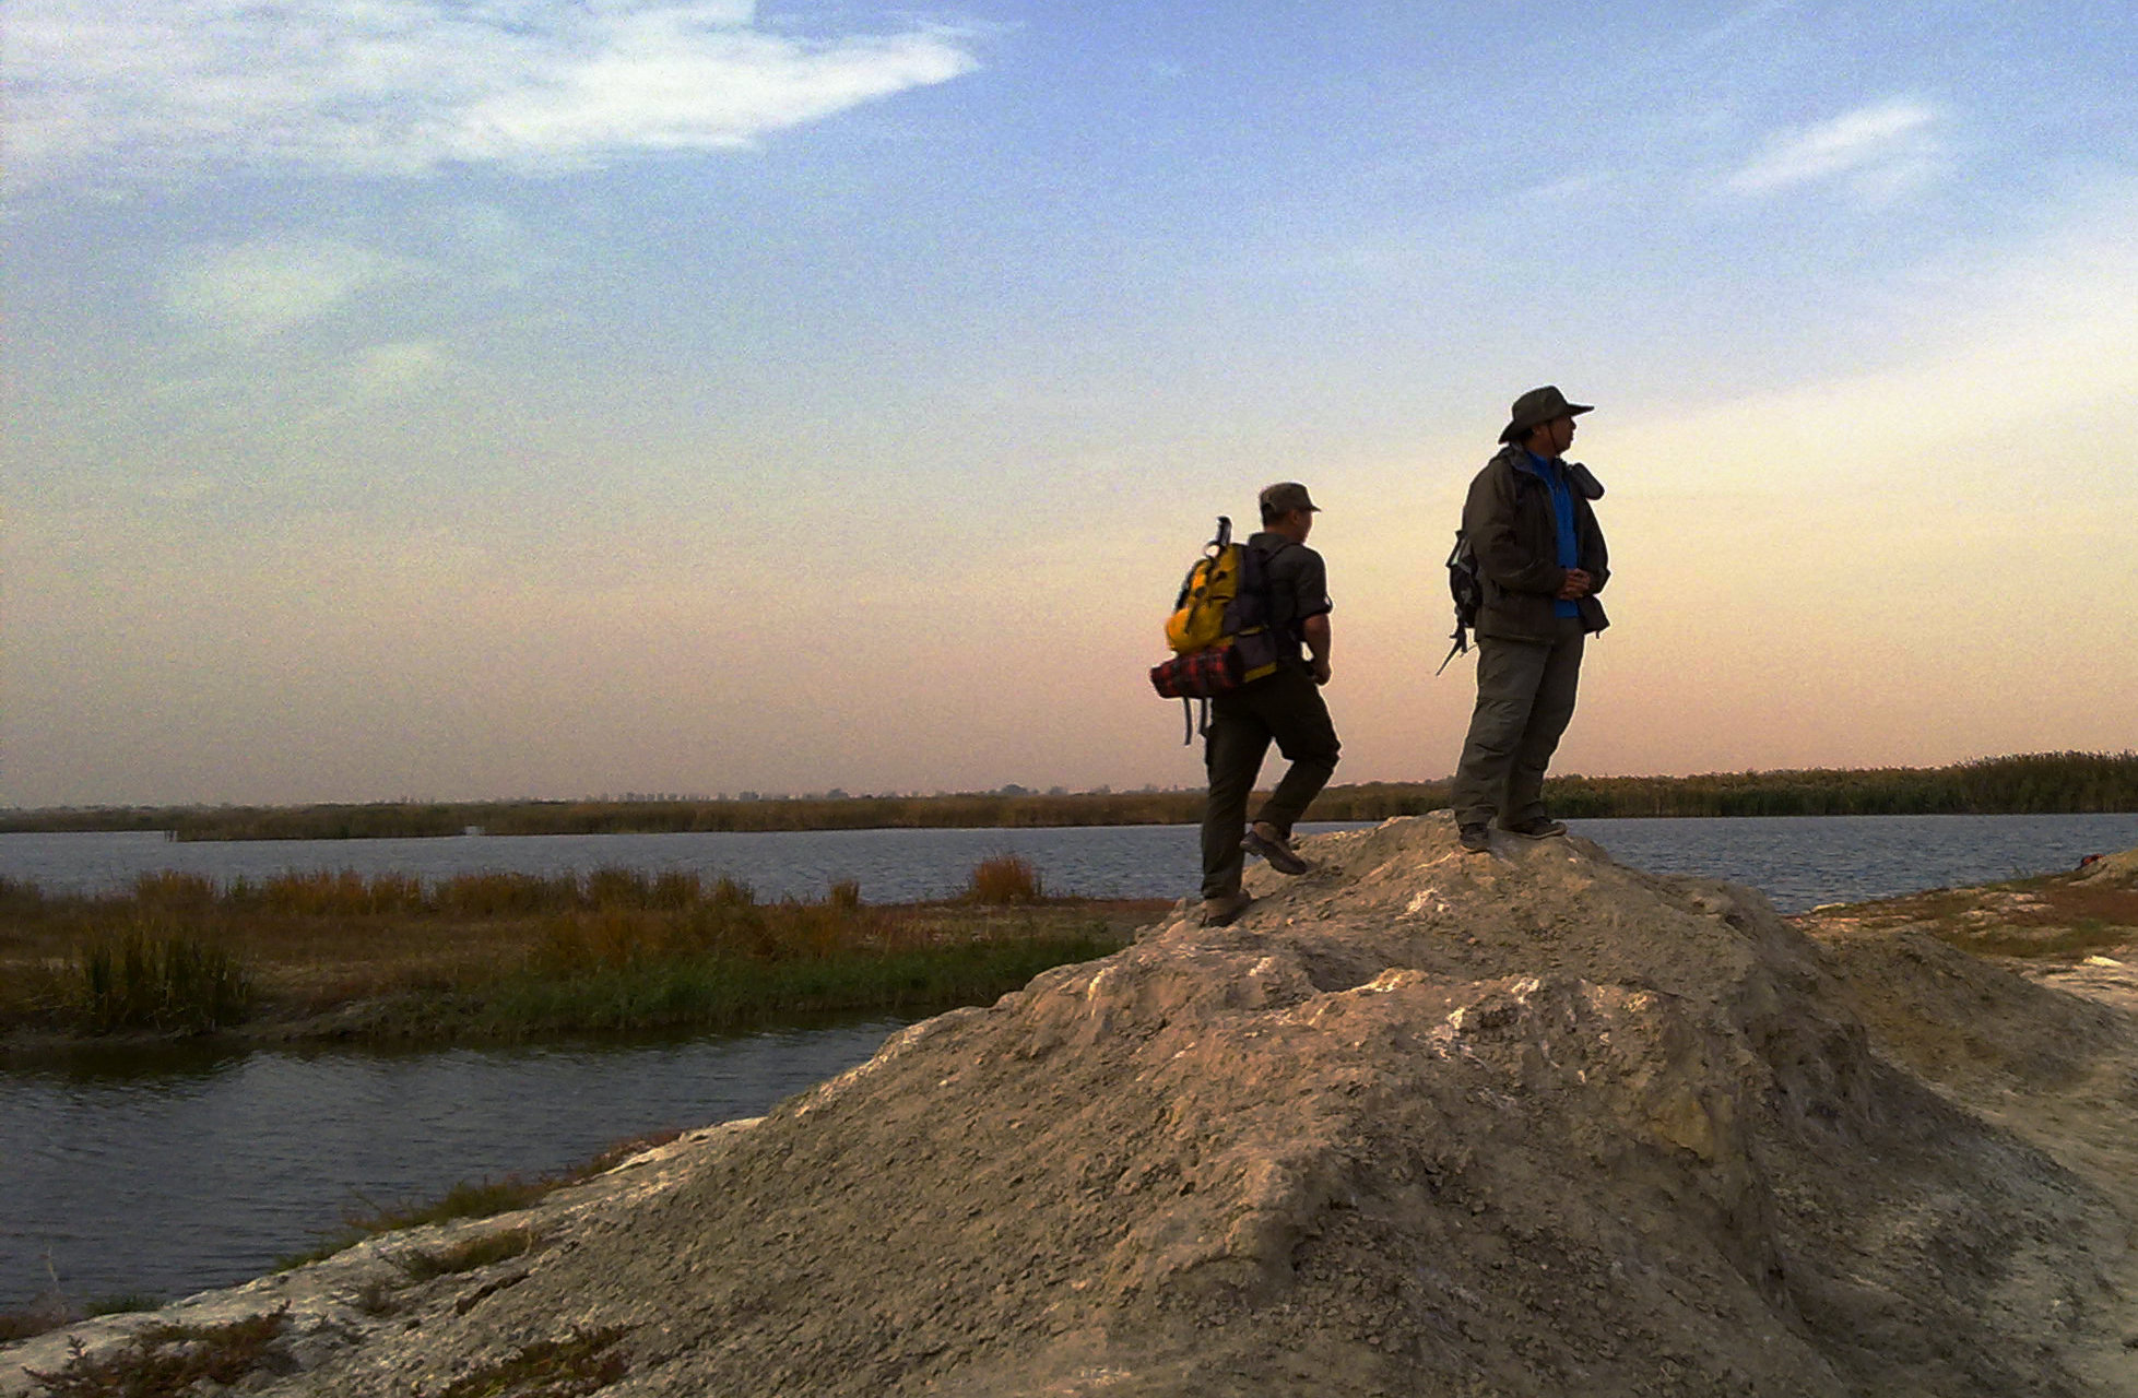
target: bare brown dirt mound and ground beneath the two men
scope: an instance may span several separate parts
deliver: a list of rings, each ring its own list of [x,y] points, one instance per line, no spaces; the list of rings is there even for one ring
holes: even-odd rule
[[[1954,923],[1445,814],[1302,853],[1231,928],[0,1394],[2138,1394],[2134,857]],[[2033,956],[1931,932],[2005,923]]]

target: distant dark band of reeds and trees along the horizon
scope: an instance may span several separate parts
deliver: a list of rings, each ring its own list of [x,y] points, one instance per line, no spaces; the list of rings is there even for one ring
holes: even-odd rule
[[[1565,819],[1775,814],[2057,814],[2138,810],[2138,752],[2029,752],[1952,767],[1556,776]],[[1445,808],[1447,782],[1330,787],[1317,821],[1381,821]],[[458,802],[64,810],[0,817],[0,832],[167,829],[177,840],[363,840],[385,836],[676,834],[800,829],[1033,829],[1191,825],[1202,791],[1067,795],[862,795],[750,802]]]

